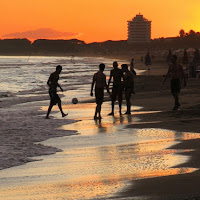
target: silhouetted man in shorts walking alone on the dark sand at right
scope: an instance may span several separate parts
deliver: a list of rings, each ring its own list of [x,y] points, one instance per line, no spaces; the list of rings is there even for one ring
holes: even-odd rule
[[[163,84],[168,77],[171,77],[171,93],[174,97],[174,108],[173,110],[178,110],[180,107],[179,93],[181,90],[181,82],[184,80],[184,87],[186,86],[186,79],[183,67],[177,63],[177,56],[172,55],[171,64],[169,65],[168,72],[165,76]]]

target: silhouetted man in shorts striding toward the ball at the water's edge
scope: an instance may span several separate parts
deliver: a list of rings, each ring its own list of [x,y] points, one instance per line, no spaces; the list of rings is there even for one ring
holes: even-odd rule
[[[56,71],[50,75],[47,81],[47,85],[49,86],[50,105],[47,111],[46,119],[49,119],[49,114],[51,112],[51,109],[56,104],[58,104],[62,117],[67,116],[67,114],[65,114],[62,110],[61,100],[57,94],[57,87],[59,87],[61,91],[63,92],[62,87],[58,84],[59,74],[61,73],[61,71],[62,71],[62,66],[58,65],[56,67]]]

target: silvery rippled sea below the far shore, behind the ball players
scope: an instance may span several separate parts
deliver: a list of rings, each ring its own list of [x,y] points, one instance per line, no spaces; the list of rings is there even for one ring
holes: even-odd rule
[[[102,62],[107,69],[112,65],[112,60],[105,58],[0,56],[0,94],[43,90],[57,65],[63,66],[60,82],[76,88],[84,84],[83,77],[92,76]]]

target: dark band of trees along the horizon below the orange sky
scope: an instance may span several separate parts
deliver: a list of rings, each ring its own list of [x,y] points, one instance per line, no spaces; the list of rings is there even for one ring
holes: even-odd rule
[[[130,44],[126,40],[105,41],[86,44],[84,41],[45,40],[31,43],[28,39],[0,40],[0,55],[74,55],[74,56],[123,56],[134,51],[160,51],[200,47],[200,33],[180,30],[179,36],[153,39],[149,43]]]

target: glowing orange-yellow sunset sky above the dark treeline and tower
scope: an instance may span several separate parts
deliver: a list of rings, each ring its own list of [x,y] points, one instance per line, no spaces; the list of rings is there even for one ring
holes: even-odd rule
[[[126,40],[127,21],[141,13],[152,38],[200,31],[200,0],[1,0],[0,38]]]

